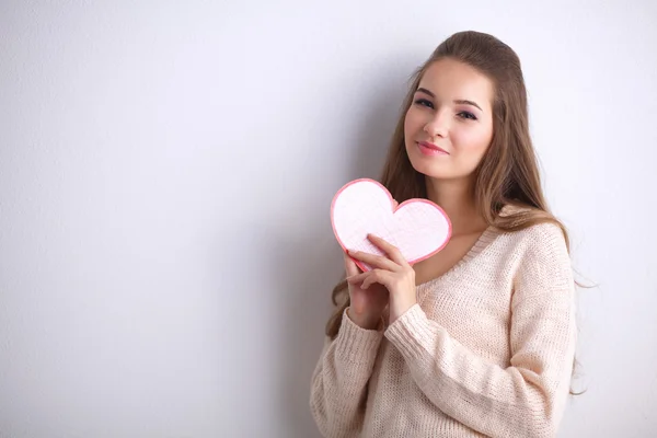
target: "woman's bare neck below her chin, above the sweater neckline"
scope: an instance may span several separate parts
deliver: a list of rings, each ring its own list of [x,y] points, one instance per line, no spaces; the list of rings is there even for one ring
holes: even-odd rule
[[[481,232],[486,221],[474,201],[474,184],[468,180],[426,177],[427,197],[445,210],[452,223],[452,235]]]

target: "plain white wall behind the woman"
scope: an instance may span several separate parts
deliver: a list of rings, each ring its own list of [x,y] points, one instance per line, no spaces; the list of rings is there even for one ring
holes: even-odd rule
[[[657,435],[657,3],[119,3],[0,4],[1,437],[318,436],[331,198],[470,28],[599,284],[562,436]]]

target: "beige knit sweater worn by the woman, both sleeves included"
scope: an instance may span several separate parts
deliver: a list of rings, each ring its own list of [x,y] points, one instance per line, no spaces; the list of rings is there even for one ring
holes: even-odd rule
[[[390,326],[343,313],[313,372],[325,437],[553,437],[576,344],[561,230],[486,230],[453,268],[417,286]]]

